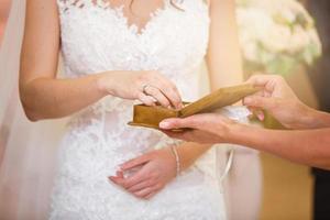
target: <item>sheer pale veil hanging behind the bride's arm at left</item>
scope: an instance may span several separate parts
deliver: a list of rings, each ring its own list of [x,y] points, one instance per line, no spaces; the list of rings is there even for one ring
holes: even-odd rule
[[[25,0],[13,0],[0,51],[0,219],[46,219],[65,120],[29,122],[18,78]]]

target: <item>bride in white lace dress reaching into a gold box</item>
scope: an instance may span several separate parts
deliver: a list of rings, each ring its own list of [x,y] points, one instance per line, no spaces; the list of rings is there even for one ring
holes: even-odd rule
[[[233,0],[26,0],[22,106],[31,121],[69,117],[50,219],[226,219],[211,145],[127,123],[135,102],[196,100],[205,57],[212,89],[242,81],[233,11]]]

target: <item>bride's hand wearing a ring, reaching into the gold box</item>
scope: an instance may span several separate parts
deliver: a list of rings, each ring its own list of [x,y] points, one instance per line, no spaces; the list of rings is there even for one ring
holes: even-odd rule
[[[183,107],[176,86],[156,70],[105,73],[98,85],[106,94],[123,99],[138,99],[147,106],[158,102],[165,108]]]

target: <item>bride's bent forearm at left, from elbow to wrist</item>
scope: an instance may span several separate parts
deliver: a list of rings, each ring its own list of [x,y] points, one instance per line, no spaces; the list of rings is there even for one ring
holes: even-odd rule
[[[103,74],[75,79],[36,78],[20,86],[21,100],[31,121],[67,117],[98,101]]]

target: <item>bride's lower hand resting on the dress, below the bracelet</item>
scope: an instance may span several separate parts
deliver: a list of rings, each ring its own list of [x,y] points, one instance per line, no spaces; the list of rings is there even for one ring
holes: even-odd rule
[[[123,173],[138,169],[124,178]],[[176,177],[176,160],[170,147],[152,151],[123,165],[117,176],[109,177],[138,198],[150,199]]]

